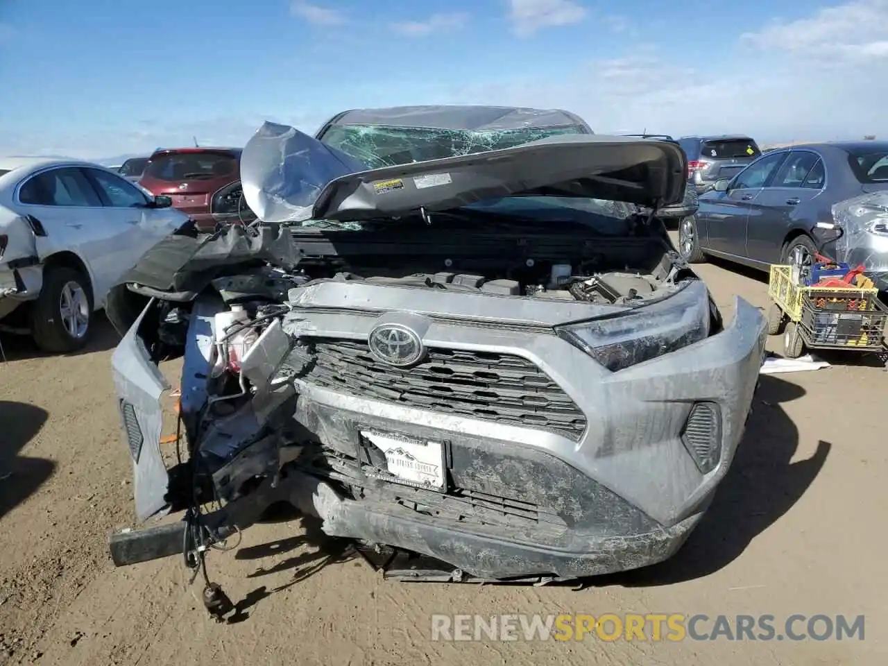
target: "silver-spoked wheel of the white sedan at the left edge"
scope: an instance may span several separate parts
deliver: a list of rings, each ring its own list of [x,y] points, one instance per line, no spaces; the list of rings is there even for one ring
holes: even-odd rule
[[[44,352],[68,353],[82,349],[92,324],[92,290],[80,271],[67,266],[48,267],[44,286],[31,311],[31,330]]]

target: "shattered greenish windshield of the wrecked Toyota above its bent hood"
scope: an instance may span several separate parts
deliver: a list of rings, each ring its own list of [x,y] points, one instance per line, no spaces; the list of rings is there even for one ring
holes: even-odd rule
[[[517,130],[436,130],[388,125],[334,125],[321,140],[367,164],[369,169],[472,155],[519,146],[561,134],[584,134],[582,127],[522,127]]]

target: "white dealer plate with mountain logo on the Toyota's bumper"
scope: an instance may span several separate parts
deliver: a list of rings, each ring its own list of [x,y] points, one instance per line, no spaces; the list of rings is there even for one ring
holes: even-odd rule
[[[388,472],[395,477],[390,480],[420,488],[445,488],[443,442],[377,430],[361,431],[361,436],[385,454]]]

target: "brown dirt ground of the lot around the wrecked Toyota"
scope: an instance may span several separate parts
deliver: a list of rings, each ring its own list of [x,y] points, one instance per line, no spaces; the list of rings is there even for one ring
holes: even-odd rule
[[[702,276],[728,317],[765,283]],[[888,657],[888,374],[853,356],[764,377],[732,471],[670,561],[565,587],[383,581],[298,522],[264,524],[210,572],[240,604],[203,612],[180,559],[117,569],[107,535],[131,526],[130,458],[104,321],[86,353],[41,358],[2,338],[0,663],[64,664],[879,664]],[[779,340],[771,345],[779,349]],[[175,367],[166,368],[175,375]],[[865,639],[817,642],[432,642],[432,614],[866,615]]]

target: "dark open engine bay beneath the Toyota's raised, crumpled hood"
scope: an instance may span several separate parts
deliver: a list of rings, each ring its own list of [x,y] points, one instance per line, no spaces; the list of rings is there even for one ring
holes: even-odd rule
[[[626,225],[631,226],[632,220]],[[454,234],[459,234],[456,242]],[[301,275],[309,281],[366,281],[624,305],[652,297],[682,279],[675,256],[655,236],[592,243],[580,231],[494,236],[424,229],[421,238],[414,240],[411,235],[400,229],[395,233],[294,231],[302,255]],[[313,249],[328,253],[312,256]],[[329,253],[330,249],[335,251]]]

